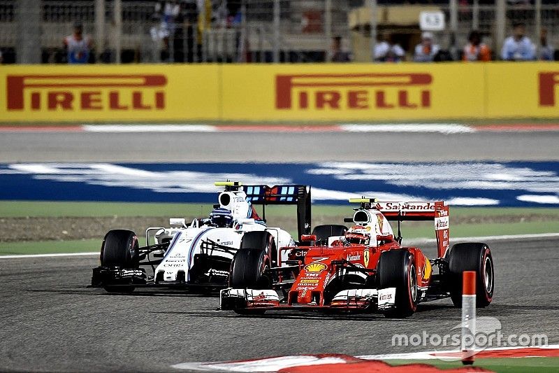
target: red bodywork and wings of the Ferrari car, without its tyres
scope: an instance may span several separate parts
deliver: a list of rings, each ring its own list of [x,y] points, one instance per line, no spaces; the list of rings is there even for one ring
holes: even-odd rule
[[[437,239],[438,258],[444,258],[449,248],[449,207],[444,202],[416,202],[412,204],[372,204],[367,211],[370,216],[378,219],[381,226],[386,220],[434,220],[435,237]],[[382,219],[382,217],[386,219]],[[356,222],[357,223],[357,222]],[[375,222],[376,224],[376,222]],[[365,297],[348,296],[344,300],[335,300],[333,293],[328,294],[328,287],[333,281],[347,273],[360,276],[371,276],[377,271],[377,264],[381,253],[390,250],[405,250],[412,254],[416,273],[418,290],[417,302],[426,297],[427,290],[432,280],[432,267],[430,260],[419,248],[402,246],[393,237],[393,234],[377,236],[376,241],[370,244],[347,244],[336,240],[329,246],[296,246],[281,248],[280,251],[289,252],[289,264],[293,284],[287,291],[286,300],[270,300],[262,293],[252,299],[247,299],[247,309],[285,309],[285,308],[335,308],[335,309],[365,309],[370,307],[370,299]],[[305,237],[305,240],[311,237]],[[314,243],[313,243],[314,244]],[[281,257],[281,255],[278,255]],[[279,262],[281,267],[281,262]],[[279,272],[278,283],[284,283],[288,274]],[[374,288],[375,285],[361,286],[361,288]]]

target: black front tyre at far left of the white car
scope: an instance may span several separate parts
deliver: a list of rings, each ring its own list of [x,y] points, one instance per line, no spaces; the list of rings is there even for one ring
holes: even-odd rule
[[[139,267],[138,237],[131,230],[110,230],[101,244],[101,267]],[[133,286],[105,286],[109,293],[130,293]]]

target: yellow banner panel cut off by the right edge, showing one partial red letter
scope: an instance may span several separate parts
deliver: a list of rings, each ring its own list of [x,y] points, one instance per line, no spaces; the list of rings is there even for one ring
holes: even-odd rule
[[[558,118],[558,62],[486,66],[486,118]]]

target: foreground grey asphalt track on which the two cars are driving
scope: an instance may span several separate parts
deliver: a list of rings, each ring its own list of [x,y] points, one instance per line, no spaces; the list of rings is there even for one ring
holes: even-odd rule
[[[478,316],[498,318],[503,335],[544,333],[557,344],[559,239],[488,244],[496,290]],[[170,365],[293,353],[430,351],[437,348],[392,346],[392,335],[453,334],[460,320],[449,300],[420,305],[405,320],[288,311],[237,316],[216,311],[217,297],[86,288],[96,265],[94,257],[0,260],[1,371],[176,371]]]

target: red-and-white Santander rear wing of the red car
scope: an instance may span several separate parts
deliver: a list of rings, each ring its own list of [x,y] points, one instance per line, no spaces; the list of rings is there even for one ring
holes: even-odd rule
[[[430,221],[435,223],[435,238],[439,258],[449,249],[449,206],[444,201],[437,202],[377,202],[374,198],[350,199],[349,202],[359,203],[360,209],[377,210],[389,221],[398,221],[398,237],[400,222]]]

